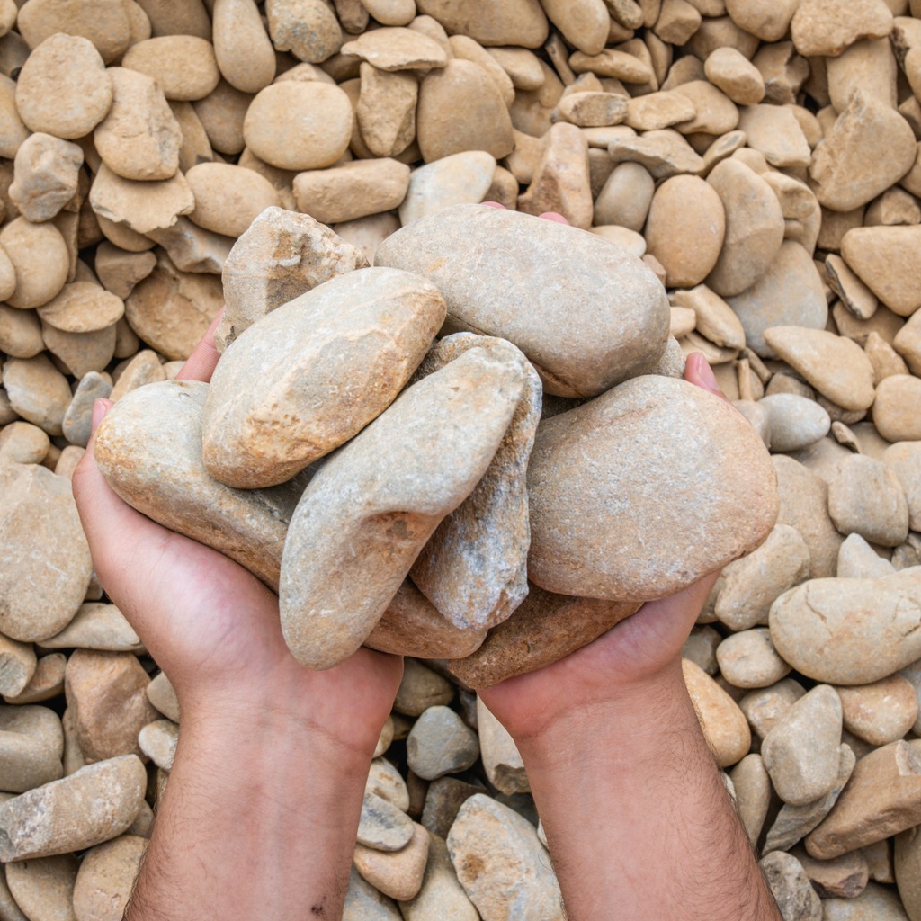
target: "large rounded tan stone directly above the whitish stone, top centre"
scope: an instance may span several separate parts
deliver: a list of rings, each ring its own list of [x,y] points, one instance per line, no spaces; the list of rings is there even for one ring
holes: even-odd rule
[[[461,59],[423,79],[416,137],[426,162],[464,150],[500,158],[514,146],[511,118],[494,81],[478,64]]]

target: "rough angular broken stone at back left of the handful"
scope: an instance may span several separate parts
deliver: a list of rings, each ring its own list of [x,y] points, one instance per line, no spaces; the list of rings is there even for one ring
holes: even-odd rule
[[[237,240],[224,263],[227,304],[215,343],[223,352],[247,327],[282,304],[337,275],[367,268],[351,243],[309,215],[266,208]]]

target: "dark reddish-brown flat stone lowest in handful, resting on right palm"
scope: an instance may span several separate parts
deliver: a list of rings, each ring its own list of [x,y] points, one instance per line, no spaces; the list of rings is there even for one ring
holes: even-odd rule
[[[507,621],[493,627],[470,655],[451,660],[448,668],[472,688],[492,687],[588,646],[639,607],[637,601],[555,595],[530,583],[528,597]]]

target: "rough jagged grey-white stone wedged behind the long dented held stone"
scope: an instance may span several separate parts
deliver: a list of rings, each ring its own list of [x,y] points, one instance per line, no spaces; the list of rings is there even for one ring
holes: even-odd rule
[[[469,349],[483,348],[518,362],[525,387],[502,444],[483,479],[426,543],[410,571],[416,586],[451,624],[490,627],[504,621],[528,594],[530,449],[541,418],[541,379],[511,343],[459,332],[433,345],[422,377]]]

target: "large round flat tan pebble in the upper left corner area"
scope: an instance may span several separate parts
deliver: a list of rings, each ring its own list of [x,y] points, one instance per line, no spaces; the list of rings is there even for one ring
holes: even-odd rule
[[[85,137],[109,112],[111,75],[93,43],[81,35],[49,36],[22,65],[16,105],[31,131]]]

